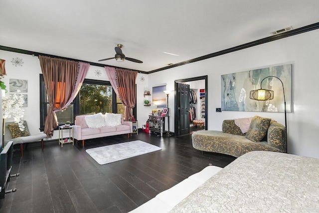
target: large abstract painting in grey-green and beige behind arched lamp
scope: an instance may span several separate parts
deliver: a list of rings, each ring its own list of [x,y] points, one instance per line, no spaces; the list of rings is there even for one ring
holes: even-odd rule
[[[247,112],[285,112],[283,86],[284,84],[287,112],[292,112],[292,64],[248,70],[244,72],[221,75],[221,108],[223,111]],[[273,90],[274,99],[256,101],[249,98],[251,90]]]

